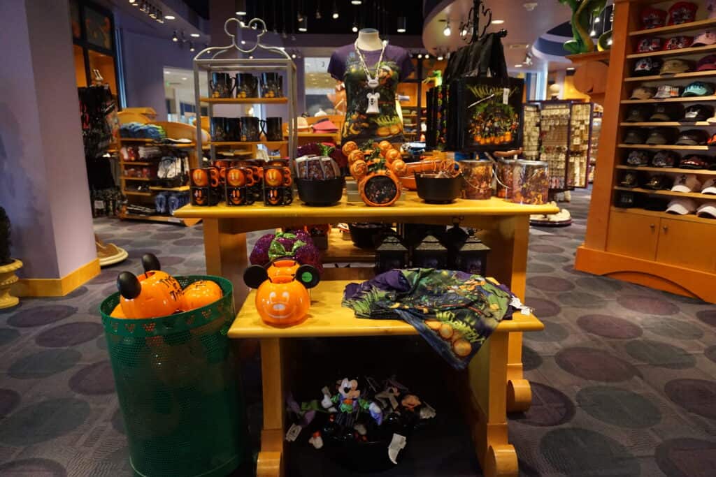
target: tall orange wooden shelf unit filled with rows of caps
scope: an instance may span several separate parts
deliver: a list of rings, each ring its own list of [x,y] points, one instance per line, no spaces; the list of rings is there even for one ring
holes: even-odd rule
[[[716,254],[704,253],[716,240],[716,217],[707,206],[716,196],[705,186],[707,180],[716,178],[716,149],[698,135],[677,139],[694,129],[705,133],[704,137],[716,134],[716,119],[706,117],[711,113],[691,118],[684,114],[696,105],[707,111],[716,107],[712,88],[716,60],[710,58],[716,44],[706,34],[716,29],[716,12],[711,11],[709,1],[692,4],[695,14],[677,12],[684,9],[677,1],[614,3],[599,167],[586,237],[577,249],[574,267],[716,303]],[[675,15],[677,21],[672,18]],[[676,49],[649,47],[678,36],[695,41]],[[647,60],[670,66],[656,69]],[[684,89],[693,82],[707,87],[692,87],[690,94],[695,95],[684,97]],[[679,94],[664,97],[659,87],[677,87]],[[644,110],[632,111],[637,108]],[[655,128],[664,128],[667,134],[659,135]],[[654,160],[658,152],[659,159]],[[677,154],[676,160],[662,160],[667,154]],[[628,161],[630,155],[637,160]],[[636,184],[624,183],[630,173],[637,174]],[[666,187],[650,188],[662,185],[653,180],[662,175],[667,177]],[[682,176],[684,184],[673,190]]]

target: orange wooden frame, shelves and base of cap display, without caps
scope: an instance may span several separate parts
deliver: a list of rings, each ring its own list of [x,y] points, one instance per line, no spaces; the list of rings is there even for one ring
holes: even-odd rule
[[[637,52],[637,44],[644,37],[659,36],[663,39],[674,34],[694,36],[704,29],[716,26],[716,19],[705,19],[708,11],[705,1],[697,1],[697,19],[691,23],[669,25],[654,29],[641,29],[640,12],[646,6],[668,10],[675,1],[623,0],[614,6],[614,43],[611,46],[608,84],[614,85],[606,92],[604,122],[599,147],[599,168],[592,191],[591,207],[587,220],[584,245],[577,249],[576,270],[606,275],[639,285],[666,290],[689,297],[698,297],[716,303],[716,254],[712,250],[716,241],[716,220],[696,215],[672,215],[663,211],[645,210],[639,207],[615,207],[616,196],[624,190],[637,197],[662,197],[674,200],[688,197],[697,205],[716,196],[700,191],[672,192],[670,190],[647,190],[643,187],[627,189],[619,185],[621,175],[627,170],[644,174],[696,174],[703,182],[716,175],[707,169],[683,169],[679,167],[632,167],[624,164],[632,149],[653,153],[673,150],[685,154],[705,154],[715,157],[707,146],[649,146],[647,144],[623,144],[621,139],[629,128],[676,127],[702,129],[708,134],[716,132],[716,124],[709,122],[624,122],[629,109],[638,104],[661,102],[714,105],[716,96],[677,97],[668,99],[629,99],[632,89],[645,85],[657,87],[672,84],[684,87],[692,81],[712,82],[716,71],[686,72],[669,75],[633,76],[634,63],[647,56],[664,59],[697,60],[715,51],[715,46],[695,46],[671,51]],[[683,33],[681,33],[683,32]],[[688,244],[688,246],[684,246]]]

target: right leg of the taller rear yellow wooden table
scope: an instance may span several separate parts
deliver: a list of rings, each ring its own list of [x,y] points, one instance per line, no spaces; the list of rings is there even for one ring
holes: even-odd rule
[[[515,295],[524,300],[529,216],[498,216],[488,217],[488,220],[475,217],[475,220],[466,221],[465,225],[483,230],[480,237],[491,249],[488,276],[508,285]],[[523,377],[522,333],[510,333],[508,350],[507,409],[511,412],[527,410],[532,403],[532,391],[530,383]]]

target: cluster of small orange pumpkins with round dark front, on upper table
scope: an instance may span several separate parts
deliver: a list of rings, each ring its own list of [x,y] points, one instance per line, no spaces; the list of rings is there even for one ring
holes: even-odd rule
[[[358,192],[366,205],[385,207],[400,198],[399,177],[407,173],[402,154],[387,141],[377,147],[358,147],[354,141],[343,144],[350,173],[358,182]]]

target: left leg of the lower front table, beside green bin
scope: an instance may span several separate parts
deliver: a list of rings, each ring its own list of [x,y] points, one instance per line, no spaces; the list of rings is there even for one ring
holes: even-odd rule
[[[261,340],[263,430],[256,463],[257,477],[284,477],[284,356],[280,338]]]

